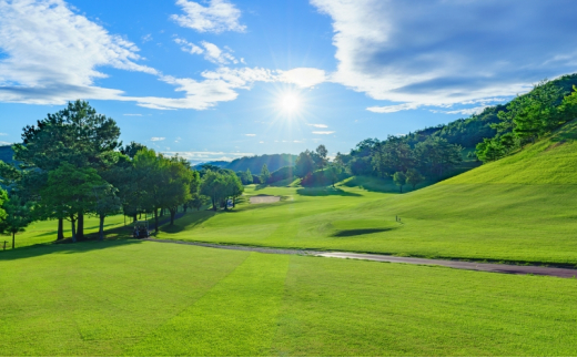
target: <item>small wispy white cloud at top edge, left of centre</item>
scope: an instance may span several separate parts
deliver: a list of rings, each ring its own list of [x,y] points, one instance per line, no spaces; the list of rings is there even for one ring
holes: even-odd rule
[[[178,0],[176,4],[182,8],[184,14],[173,14],[171,18],[181,27],[214,33],[246,30],[246,27],[239,22],[241,11],[226,0],[210,0],[207,7],[186,0]]]

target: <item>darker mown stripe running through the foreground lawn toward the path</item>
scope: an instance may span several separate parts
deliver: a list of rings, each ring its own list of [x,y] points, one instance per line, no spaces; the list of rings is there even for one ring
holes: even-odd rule
[[[267,356],[291,257],[253,253],[129,356]]]

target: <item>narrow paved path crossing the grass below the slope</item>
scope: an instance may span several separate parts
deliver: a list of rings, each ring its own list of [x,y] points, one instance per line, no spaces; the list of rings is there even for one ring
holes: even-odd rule
[[[563,277],[563,278],[577,277],[577,269],[574,269],[574,268],[559,268],[559,267],[546,267],[546,266],[519,266],[519,265],[506,265],[506,264],[483,264],[483,263],[459,262],[459,260],[449,260],[449,259],[398,257],[398,256],[378,255],[378,254],[320,252],[320,250],[313,250],[313,249],[292,249],[292,248],[274,248],[274,247],[219,245],[219,244],[209,244],[209,243],[180,242],[180,241],[158,239],[158,238],[144,238],[144,241],[163,243],[163,244],[193,245],[193,246],[204,246],[204,247],[212,247],[212,248],[235,249],[235,250],[243,250],[243,252],[256,252],[256,253],[263,253],[263,254],[307,255],[307,256],[321,256],[321,257],[331,257],[331,258],[366,259],[366,260],[374,260],[374,262],[382,262],[382,263],[445,266],[445,267],[452,267],[452,268],[458,268],[458,269],[469,269],[469,270],[499,273],[499,274],[514,274],[514,275],[539,275],[539,276],[554,276],[554,277]]]

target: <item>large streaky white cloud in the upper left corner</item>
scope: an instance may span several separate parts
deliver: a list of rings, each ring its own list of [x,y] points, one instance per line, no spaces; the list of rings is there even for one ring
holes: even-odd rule
[[[3,0],[0,13],[0,48],[8,54],[0,61],[2,89],[45,88],[53,83],[85,89],[94,79],[107,76],[95,70],[103,65],[158,73],[134,62],[141,57],[132,42],[73,13],[62,0]],[[108,89],[91,91],[100,96],[114,94]]]

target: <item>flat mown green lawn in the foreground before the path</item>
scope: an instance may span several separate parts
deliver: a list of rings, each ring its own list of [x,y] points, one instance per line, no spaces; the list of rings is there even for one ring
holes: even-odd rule
[[[0,255],[0,356],[575,356],[575,280],[138,241]]]

